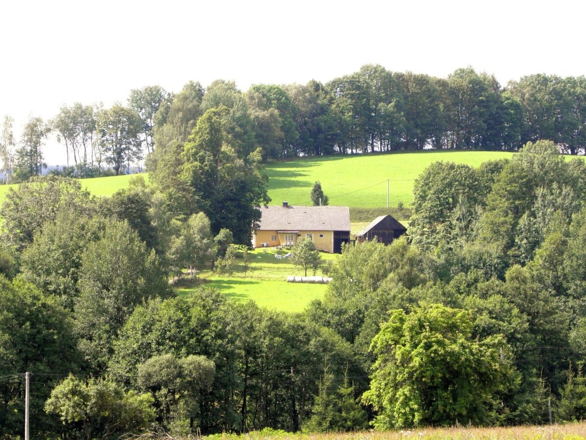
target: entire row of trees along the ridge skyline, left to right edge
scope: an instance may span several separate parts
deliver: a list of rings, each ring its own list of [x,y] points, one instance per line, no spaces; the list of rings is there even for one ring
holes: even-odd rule
[[[177,94],[147,86],[132,90],[126,107],[75,103],[48,123],[31,118],[17,149],[6,116],[0,156],[5,175],[13,166],[17,180],[38,175],[52,131],[64,146],[66,172],[87,177],[106,166],[118,174],[155,147],[164,154],[187,142],[197,120],[220,106],[242,159],[257,148],[263,160],[429,148],[516,151],[540,139],[579,154],[586,146],[584,90],[583,76],[530,75],[503,87],[470,67],[442,79],[379,65],[325,84],[256,84],[244,93],[224,80],[206,89],[189,82]]]

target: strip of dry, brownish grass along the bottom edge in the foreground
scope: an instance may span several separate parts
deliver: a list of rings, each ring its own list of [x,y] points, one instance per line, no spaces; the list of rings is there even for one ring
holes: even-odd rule
[[[248,432],[241,436],[231,434],[217,434],[204,437],[209,440],[265,440],[271,438],[291,440],[584,440],[586,439],[586,422],[564,425],[545,425],[505,427],[505,428],[421,428],[405,429],[403,431],[362,431],[347,434],[289,434],[270,429],[260,432]]]

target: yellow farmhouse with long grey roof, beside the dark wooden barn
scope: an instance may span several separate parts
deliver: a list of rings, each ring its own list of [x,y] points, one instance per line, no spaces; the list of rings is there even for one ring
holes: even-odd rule
[[[326,252],[342,252],[342,243],[350,241],[348,207],[260,208],[260,226],[253,236],[253,247],[293,246],[311,238],[315,247]]]

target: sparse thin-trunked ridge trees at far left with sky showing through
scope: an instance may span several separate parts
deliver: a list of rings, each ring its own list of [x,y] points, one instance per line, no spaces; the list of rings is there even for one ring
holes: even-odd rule
[[[57,174],[94,177],[113,172],[129,172],[154,148],[152,127],[155,112],[169,94],[159,86],[134,89],[128,106],[74,103],[63,106],[49,121],[30,117],[21,141],[13,134],[14,120],[5,116],[0,137],[0,160],[4,182],[26,181],[42,174],[45,144],[55,136],[64,146],[66,164]],[[110,170],[110,171],[109,171]]]

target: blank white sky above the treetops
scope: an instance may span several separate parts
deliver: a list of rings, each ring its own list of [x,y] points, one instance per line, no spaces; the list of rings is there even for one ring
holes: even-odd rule
[[[533,73],[586,75],[580,1],[0,0],[0,117],[63,104],[125,103],[131,89],[196,80],[321,82],[366,63],[503,85]],[[63,147],[47,143],[49,163]]]

